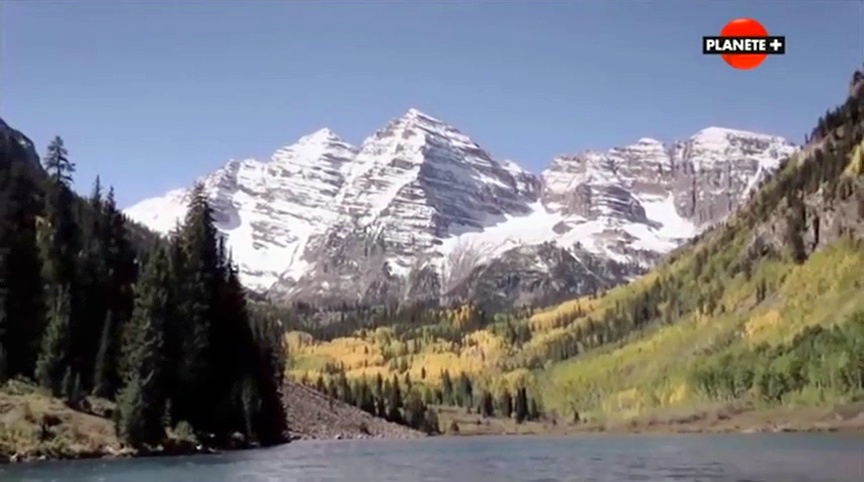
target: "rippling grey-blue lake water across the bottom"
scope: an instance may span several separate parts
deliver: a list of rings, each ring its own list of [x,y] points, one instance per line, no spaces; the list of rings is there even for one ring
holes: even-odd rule
[[[864,480],[839,434],[439,437],[294,442],[224,455],[0,466],[3,482],[833,482]]]

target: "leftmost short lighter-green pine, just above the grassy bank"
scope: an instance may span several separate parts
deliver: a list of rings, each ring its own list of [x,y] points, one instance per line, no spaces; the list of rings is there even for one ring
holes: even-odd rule
[[[70,306],[68,288],[60,288],[53,296],[48,326],[42,338],[42,349],[36,361],[36,379],[43,387],[59,396],[63,390],[65,371],[69,369]]]

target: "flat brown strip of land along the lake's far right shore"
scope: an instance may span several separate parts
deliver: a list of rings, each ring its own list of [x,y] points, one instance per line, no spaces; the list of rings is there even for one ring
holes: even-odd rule
[[[448,435],[577,435],[580,433],[765,433],[855,432],[864,434],[864,402],[837,407],[770,409],[722,408],[657,413],[620,422],[582,423],[483,417],[463,409],[438,409],[441,429]]]

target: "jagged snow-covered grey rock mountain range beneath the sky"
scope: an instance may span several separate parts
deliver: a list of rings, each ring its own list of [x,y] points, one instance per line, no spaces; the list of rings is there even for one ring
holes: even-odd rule
[[[560,156],[540,175],[411,109],[359,147],[329,129],[200,179],[244,283],[318,302],[551,302],[604,289],[721,221],[793,153],[719,127]],[[130,207],[166,233],[190,189]]]

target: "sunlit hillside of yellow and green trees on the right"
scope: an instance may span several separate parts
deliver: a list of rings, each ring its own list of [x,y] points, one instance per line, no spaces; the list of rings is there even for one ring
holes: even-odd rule
[[[536,313],[295,307],[290,373],[410,379],[472,410],[526,388],[567,419],[862,400],[861,84],[728,222],[635,282]],[[471,395],[436,395],[463,376]]]

